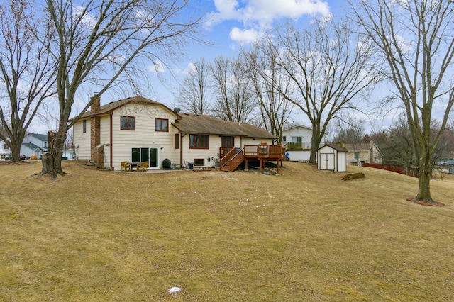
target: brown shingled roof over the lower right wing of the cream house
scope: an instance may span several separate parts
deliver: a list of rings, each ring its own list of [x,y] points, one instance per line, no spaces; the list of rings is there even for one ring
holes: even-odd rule
[[[201,114],[180,113],[181,119],[172,123],[182,133],[238,135],[249,138],[277,138],[267,130],[247,123],[223,121],[214,116]]]

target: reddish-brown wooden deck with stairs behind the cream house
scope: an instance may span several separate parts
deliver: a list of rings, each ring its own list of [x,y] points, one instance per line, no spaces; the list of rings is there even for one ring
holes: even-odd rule
[[[221,147],[219,154],[221,171],[234,171],[243,162],[248,169],[248,162],[260,162],[260,172],[262,172],[265,162],[273,161],[276,162],[277,173],[279,173],[279,165],[284,160],[285,149],[280,145],[245,145],[243,149]]]

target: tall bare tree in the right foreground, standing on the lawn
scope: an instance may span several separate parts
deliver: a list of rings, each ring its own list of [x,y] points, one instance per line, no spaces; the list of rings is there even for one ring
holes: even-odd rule
[[[362,0],[352,7],[367,39],[387,62],[394,99],[409,123],[419,169],[414,201],[436,204],[430,190],[432,157],[454,103],[453,1]],[[436,105],[441,126],[432,133]]]

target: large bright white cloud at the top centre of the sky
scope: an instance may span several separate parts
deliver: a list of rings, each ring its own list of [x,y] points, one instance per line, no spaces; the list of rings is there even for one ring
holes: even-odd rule
[[[244,28],[231,30],[230,36],[240,43],[250,43],[258,38],[273,21],[302,16],[331,17],[329,6],[323,0],[214,0],[217,11],[206,17],[206,26],[223,21],[238,21]]]

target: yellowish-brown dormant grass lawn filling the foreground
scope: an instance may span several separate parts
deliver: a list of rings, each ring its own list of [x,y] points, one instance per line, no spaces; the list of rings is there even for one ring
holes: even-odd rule
[[[0,165],[0,301],[454,301],[454,175],[63,167]]]

